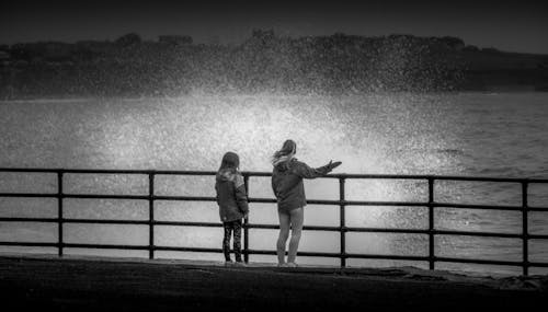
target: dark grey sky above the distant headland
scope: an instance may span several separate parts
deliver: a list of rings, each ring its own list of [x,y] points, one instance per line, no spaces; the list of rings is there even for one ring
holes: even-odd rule
[[[190,2],[190,3],[186,3]],[[283,36],[346,33],[456,36],[466,44],[548,54],[548,1],[28,1],[2,0],[0,44],[191,35],[240,43],[253,28]]]

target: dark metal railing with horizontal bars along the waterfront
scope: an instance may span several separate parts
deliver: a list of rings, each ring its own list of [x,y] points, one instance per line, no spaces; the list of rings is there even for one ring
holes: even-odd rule
[[[180,247],[180,246],[161,246],[155,244],[155,227],[156,226],[178,226],[178,227],[222,227],[220,222],[186,222],[186,221],[160,221],[155,219],[155,201],[156,200],[192,200],[192,201],[215,201],[215,197],[208,196],[161,196],[155,194],[155,177],[157,175],[215,175],[214,171],[152,171],[152,170],[66,170],[66,169],[9,169],[0,167],[2,172],[15,173],[49,173],[57,175],[57,192],[56,193],[0,193],[1,197],[38,197],[38,198],[57,198],[57,218],[15,218],[2,217],[0,222],[53,222],[57,223],[58,241],[57,242],[13,242],[0,241],[0,246],[49,246],[57,247],[58,255],[62,256],[64,249],[114,249],[114,250],[141,250],[148,251],[149,258],[155,257],[155,251],[178,251],[178,252],[206,252],[220,253],[221,249],[207,247]],[[65,174],[130,174],[148,176],[148,194],[147,195],[98,195],[98,194],[67,194],[64,192],[64,175]],[[271,173],[267,172],[242,172],[247,189],[249,189],[249,178],[252,176],[267,177]],[[319,257],[336,257],[340,258],[341,266],[346,266],[347,258],[368,258],[368,259],[396,259],[396,261],[422,261],[427,262],[430,269],[435,268],[435,264],[439,262],[447,263],[469,263],[469,264],[487,264],[487,265],[505,265],[520,266],[523,268],[523,275],[528,275],[529,267],[548,267],[545,262],[530,262],[528,252],[529,240],[548,240],[547,234],[529,234],[528,233],[528,212],[544,211],[548,212],[548,207],[530,207],[528,205],[528,186],[529,184],[547,184],[548,180],[540,178],[501,178],[501,177],[468,177],[468,176],[435,176],[435,175],[395,175],[395,174],[330,174],[323,178],[336,178],[339,181],[339,199],[323,200],[309,199],[308,204],[315,205],[333,205],[339,206],[340,224],[339,227],[324,226],[305,226],[304,230],[316,231],[334,231],[340,233],[340,252],[299,252],[301,256],[319,256]],[[359,201],[346,200],[345,198],[345,181],[346,180],[413,180],[426,181],[429,185],[427,201]],[[501,183],[517,183],[522,190],[522,205],[518,206],[501,206],[501,205],[469,205],[469,204],[450,204],[436,203],[434,198],[434,185],[436,181],[468,181],[468,182],[501,182]],[[110,219],[82,219],[82,218],[66,218],[64,217],[64,199],[66,198],[94,198],[94,199],[139,199],[148,201],[148,220],[110,220]],[[249,198],[249,203],[276,203],[274,198]],[[359,228],[347,227],[345,222],[345,208],[347,206],[406,206],[406,207],[426,207],[429,209],[429,227],[427,229],[386,229],[386,228]],[[480,231],[458,231],[458,230],[438,230],[434,227],[435,208],[465,208],[465,209],[489,209],[489,210],[512,210],[522,212],[522,233],[501,233],[501,232],[480,232]],[[123,244],[83,244],[83,243],[66,243],[62,229],[66,223],[92,223],[92,224],[141,224],[149,227],[148,245],[123,245]],[[249,255],[273,255],[275,251],[250,250],[249,249],[249,229],[278,229],[276,224],[253,224],[244,220],[243,226],[243,250],[246,262],[249,261]],[[346,233],[347,232],[369,232],[369,233],[406,233],[406,234],[425,234],[429,236],[429,254],[424,256],[416,255],[389,255],[389,254],[355,254],[346,252]],[[483,236],[483,238],[510,238],[521,239],[523,256],[522,261],[495,261],[480,258],[459,258],[444,257],[435,254],[434,239],[436,235],[466,235],[466,236]]]

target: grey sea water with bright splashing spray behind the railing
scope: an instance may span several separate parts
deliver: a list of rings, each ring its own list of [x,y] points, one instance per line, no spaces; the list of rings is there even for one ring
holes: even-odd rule
[[[0,166],[215,171],[226,151],[243,171],[271,171],[285,139],[311,166],[338,173],[548,177],[547,93],[385,93],[368,95],[193,94],[174,99],[78,99],[0,102]],[[213,196],[213,176],[156,177],[157,195]],[[309,199],[339,199],[339,182],[306,182]],[[0,192],[55,193],[55,174],[0,173]],[[146,175],[67,174],[68,194],[148,194]],[[272,198],[270,178],[251,177],[250,197]],[[346,199],[426,201],[424,181],[347,180]],[[436,182],[435,200],[521,205],[516,183]],[[548,207],[548,185],[532,184],[529,205]],[[148,203],[65,199],[65,217],[148,219]],[[164,221],[218,222],[215,203],[155,203]],[[56,217],[56,199],[0,198],[2,217]],[[346,207],[349,227],[427,228],[425,207]],[[271,204],[251,205],[251,223],[277,223]],[[309,205],[307,226],[340,224],[338,206]],[[521,233],[520,211],[436,208],[436,229]],[[147,226],[64,226],[67,243],[148,244]],[[529,233],[548,233],[548,212],[529,212]],[[155,228],[155,244],[220,247],[220,228]],[[250,249],[274,250],[276,230],[250,229]],[[56,242],[55,223],[0,222],[1,241]],[[427,235],[346,233],[347,253],[427,255]],[[1,247],[52,252],[55,249]],[[339,232],[305,231],[299,251],[341,251]],[[76,250],[67,254],[148,256],[141,251]],[[521,261],[520,239],[436,235],[439,256]],[[157,257],[220,259],[219,254],[156,252]],[[251,255],[252,262],[275,262]],[[548,261],[548,242],[529,242],[529,261]],[[338,258],[299,257],[339,265]],[[347,259],[350,266],[427,267],[422,262]],[[520,274],[518,267],[436,263],[436,268]],[[532,269],[534,274],[535,268]],[[538,269],[541,273],[540,269]]]

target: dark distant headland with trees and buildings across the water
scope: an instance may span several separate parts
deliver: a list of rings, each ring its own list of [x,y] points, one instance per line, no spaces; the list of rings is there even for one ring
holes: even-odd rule
[[[457,37],[282,37],[254,30],[238,45],[190,36],[0,45],[0,99],[176,96],[193,91],[353,94],[548,91],[548,55],[500,51]]]

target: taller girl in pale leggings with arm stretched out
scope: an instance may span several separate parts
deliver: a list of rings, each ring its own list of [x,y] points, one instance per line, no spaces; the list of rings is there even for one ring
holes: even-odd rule
[[[279,235],[276,244],[278,266],[295,267],[295,258],[299,246],[302,223],[305,220],[305,185],[302,178],[323,176],[339,166],[341,162],[330,161],[327,165],[312,169],[295,158],[297,145],[286,140],[281,150],[272,157],[272,190],[277,199],[277,213],[279,218]],[[285,262],[285,247],[292,228],[292,239],[287,263]]]

